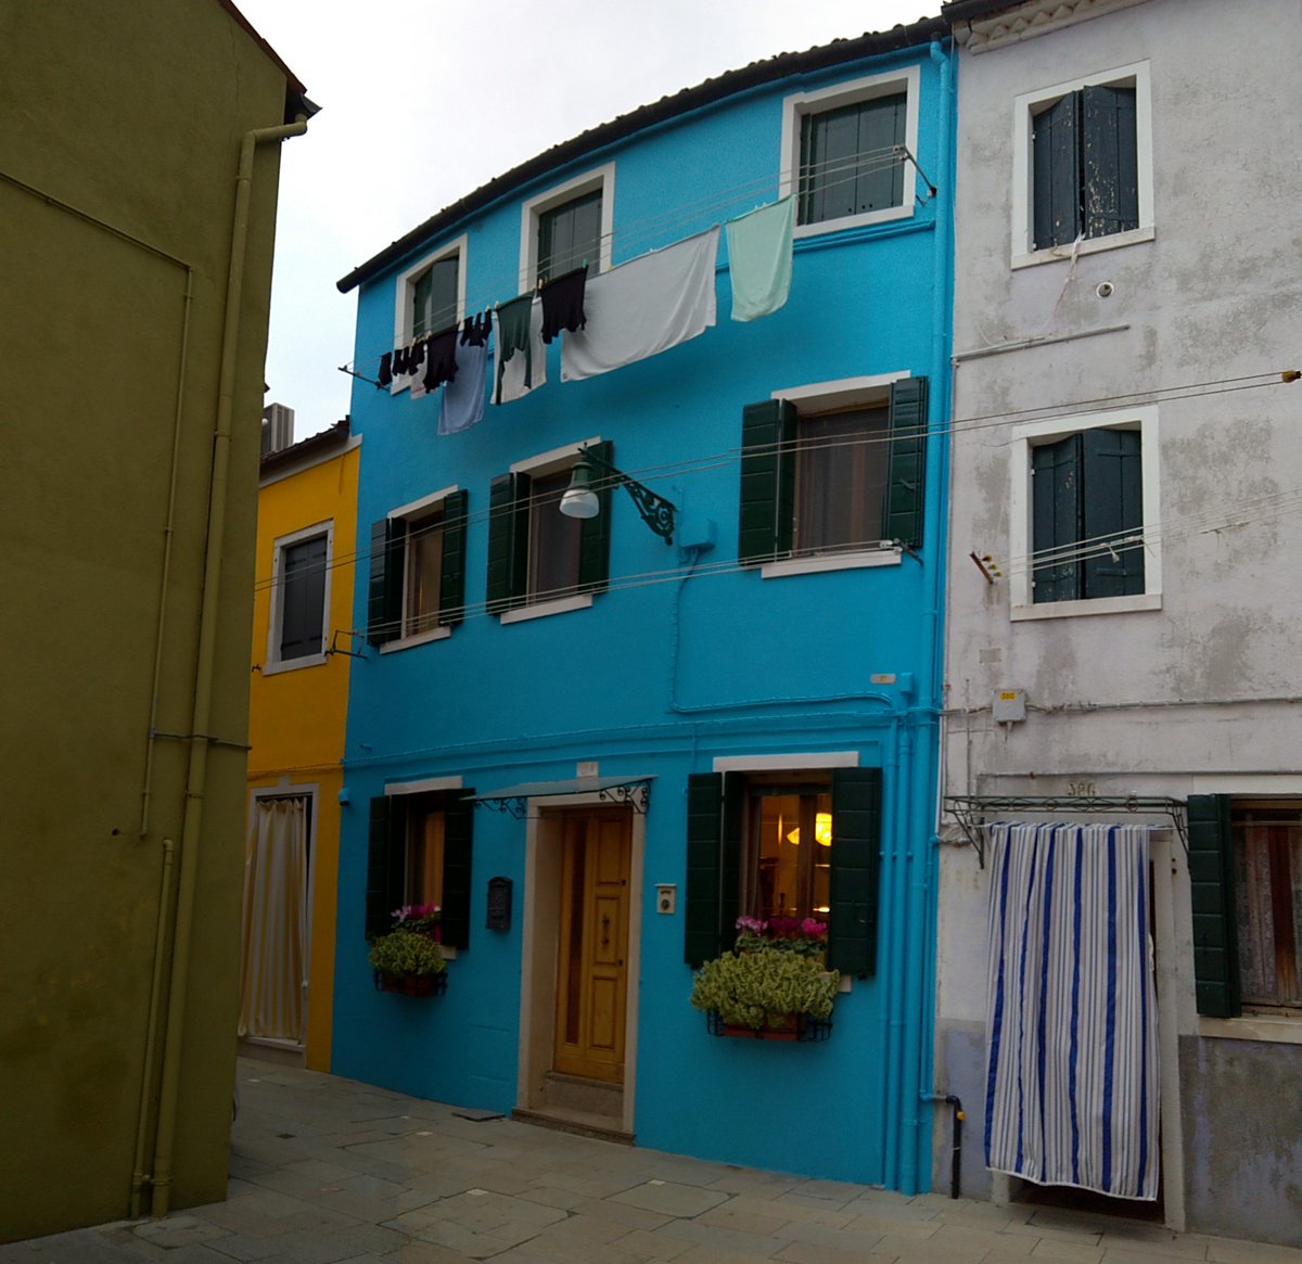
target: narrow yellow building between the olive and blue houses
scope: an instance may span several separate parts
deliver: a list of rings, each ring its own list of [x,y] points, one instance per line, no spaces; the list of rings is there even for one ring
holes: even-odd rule
[[[361,441],[345,418],[270,452],[258,493],[240,1035],[316,1071],[331,1057]]]

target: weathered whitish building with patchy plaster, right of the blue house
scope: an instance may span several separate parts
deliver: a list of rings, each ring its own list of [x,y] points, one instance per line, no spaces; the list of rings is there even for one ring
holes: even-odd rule
[[[1083,1090],[1070,1127],[1055,1114],[1070,1047],[1081,1067],[1105,1058],[1115,1103],[1155,1105],[1107,1162],[1116,1179],[1142,1161],[1151,1185],[1134,1139],[1160,1151],[1156,1222],[1302,1243],[1302,384],[1285,372],[1302,361],[1302,4],[945,16],[962,52],[944,794],[966,832],[947,812],[936,1083],[971,1121],[965,1192],[1109,1207],[1064,1187],[1061,1151],[1091,1127]],[[1072,827],[1043,916],[1049,833],[1001,850],[982,820]],[[1088,886],[1107,846],[1074,828],[1092,824],[1155,827],[1150,898],[1100,922],[1118,942],[1138,929],[1146,961],[1155,946],[1108,1015],[1134,1026],[1155,1000],[1147,1080],[1137,1047],[1107,1060],[1083,992],[1079,1013],[1039,1008],[1074,929],[1061,862],[1079,851]],[[1009,881],[995,933],[992,875]],[[987,944],[1021,952],[1023,929],[1026,954],[990,971]],[[1004,1074],[1017,1041],[1026,1061],[988,1113],[1044,1187],[982,1161],[996,1001],[993,1061]],[[940,1118],[937,1187],[948,1172]]]

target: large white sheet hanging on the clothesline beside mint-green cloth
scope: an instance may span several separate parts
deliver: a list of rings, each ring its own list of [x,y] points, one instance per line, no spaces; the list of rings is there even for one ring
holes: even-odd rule
[[[561,380],[634,364],[698,337],[715,324],[719,229],[642,255],[587,282],[587,325],[565,335]]]

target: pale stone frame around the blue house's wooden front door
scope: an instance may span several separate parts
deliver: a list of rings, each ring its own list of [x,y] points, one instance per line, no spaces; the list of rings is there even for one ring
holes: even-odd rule
[[[516,1100],[521,1109],[542,1104],[543,1082],[552,1069],[556,1039],[556,945],[560,933],[561,823],[566,810],[621,808],[629,814],[628,1000],[624,1014],[624,1118],[633,1133],[637,1104],[638,979],[642,957],[646,815],[600,794],[549,794],[529,799],[525,829],[525,890],[519,971],[519,1071]]]

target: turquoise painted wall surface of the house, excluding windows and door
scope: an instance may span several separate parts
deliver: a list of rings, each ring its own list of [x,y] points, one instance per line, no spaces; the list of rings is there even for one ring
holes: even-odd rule
[[[469,234],[466,311],[517,292],[521,202],[602,163],[616,164],[615,260],[664,246],[772,200],[783,99],[902,65],[921,66],[918,159],[940,186],[911,219],[798,241],[790,302],[750,324],[729,319],[720,255],[716,328],[603,378],[548,384],[474,430],[436,435],[437,398],[358,383],[365,435],[359,566],[368,525],[456,484],[470,493],[466,600],[450,638],[380,655],[352,673],[340,857],[333,1069],[443,1101],[510,1110],[519,1045],[525,825],[475,814],[471,942],[448,993],[408,1002],[376,993],[363,941],[367,802],[385,782],[461,776],[479,791],[561,780],[579,760],[602,775],[655,776],[646,823],[639,1144],[730,1162],[880,1183],[930,1183],[936,716],[948,418],[952,64],[941,48],[849,62],[751,90],[556,169],[362,286],[357,362],[392,345],[402,267]],[[723,190],[745,187],[727,204]],[[656,217],[661,217],[656,221]],[[907,371],[931,385],[926,538],[896,566],[763,579],[737,556],[738,448],[746,404],[775,389]],[[488,486],[516,461],[600,435],[615,461],[681,506],[680,539],[704,519],[716,544],[667,548],[622,492],[612,501],[612,590],[590,609],[503,626],[484,600]],[[695,564],[699,562],[699,566]],[[695,566],[695,569],[694,569]],[[668,573],[668,574],[664,574]],[[621,588],[621,577],[664,582]],[[365,627],[366,583],[354,627]],[[874,685],[894,674],[900,685]],[[820,1045],[747,1045],[707,1036],[684,963],[689,773],[716,756],[859,752],[885,773],[876,976],[837,1001]],[[484,927],[486,884],[514,880],[509,932]],[[654,910],[674,883],[677,916]]]

